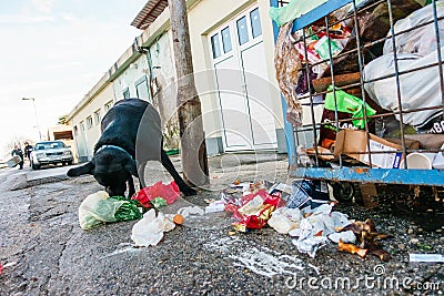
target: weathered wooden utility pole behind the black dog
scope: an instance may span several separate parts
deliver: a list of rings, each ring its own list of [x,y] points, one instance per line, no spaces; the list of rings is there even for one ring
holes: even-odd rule
[[[195,89],[185,0],[168,0],[178,79],[178,115],[185,181],[208,184],[209,169],[201,101]]]

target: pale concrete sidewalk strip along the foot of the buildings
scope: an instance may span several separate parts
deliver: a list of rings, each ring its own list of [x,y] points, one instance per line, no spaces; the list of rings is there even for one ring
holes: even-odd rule
[[[181,156],[170,156],[175,169],[182,174]],[[244,152],[225,153],[208,159],[210,170],[210,184],[202,190],[218,191],[232,183],[234,180],[270,182],[287,178],[287,156],[274,152]],[[32,170],[26,163],[23,170],[2,169],[0,176],[7,176],[11,182],[10,190],[20,190],[44,183],[53,183],[68,180],[68,170],[81,164],[70,166],[46,166],[40,170]],[[158,162],[152,162],[147,167],[147,184],[158,181],[170,182],[171,175]],[[285,181],[284,181],[285,182]],[[137,182],[138,183],[138,182]]]

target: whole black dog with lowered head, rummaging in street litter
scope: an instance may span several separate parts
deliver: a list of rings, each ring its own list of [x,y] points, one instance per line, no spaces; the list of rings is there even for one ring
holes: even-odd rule
[[[149,160],[157,160],[182,193],[196,193],[179,175],[162,149],[160,116],[150,103],[139,99],[117,102],[103,116],[101,131],[92,160],[69,170],[68,176],[92,174],[110,196],[123,196],[128,183],[128,196],[132,196],[135,193],[132,176],[139,177],[141,187],[145,187],[144,165]]]

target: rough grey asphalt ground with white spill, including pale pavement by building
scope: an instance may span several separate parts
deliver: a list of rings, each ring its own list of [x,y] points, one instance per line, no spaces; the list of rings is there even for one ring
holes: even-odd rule
[[[180,171],[179,159],[174,165]],[[286,161],[273,155],[219,156],[210,166],[211,186],[181,203],[205,205],[238,177],[289,182]],[[389,263],[339,253],[334,244],[310,258],[270,227],[231,236],[224,213],[176,227],[158,246],[134,247],[135,222],[80,228],[79,205],[101,186],[91,176],[67,178],[67,169],[0,170],[0,295],[436,295],[444,288],[442,265],[408,262],[410,253],[425,252],[417,242],[444,254],[442,233],[420,232],[392,212],[337,208],[394,235],[384,243]],[[171,180],[160,165],[148,177]]]

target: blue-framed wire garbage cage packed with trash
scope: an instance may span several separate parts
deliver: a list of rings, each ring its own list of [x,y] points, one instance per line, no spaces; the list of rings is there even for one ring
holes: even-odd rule
[[[436,167],[425,169],[421,163],[416,169],[414,157],[407,159],[407,155],[434,155],[435,160],[443,156],[444,48],[440,33],[444,35],[444,1],[323,2],[291,22],[292,43],[299,48],[302,60],[297,82],[305,82],[306,93],[297,94],[297,103],[305,111],[300,126],[285,122],[290,176],[443,186],[444,171],[441,169],[444,166],[436,164]],[[270,3],[272,9],[285,8],[289,1],[271,0]],[[375,11],[384,16],[379,16],[379,21],[371,19]],[[403,23],[400,20],[404,20]],[[380,28],[379,23],[384,25]],[[280,29],[275,21],[273,25],[278,40]],[[337,45],[334,34],[341,25],[347,27],[349,35],[346,42],[342,40],[343,44]],[[371,31],[373,33],[365,35]],[[420,41],[414,41],[415,38]],[[321,40],[324,42],[323,55],[319,54],[319,61],[311,60],[309,51],[313,51]],[[352,67],[347,68],[350,64]],[[370,69],[380,74],[372,75]],[[428,91],[431,84],[433,90]],[[355,113],[342,114],[341,104],[344,103],[340,100],[346,101],[341,99],[343,92],[361,100],[360,112],[351,110]],[[334,106],[329,111],[330,120],[325,115],[327,96],[330,106]],[[285,99],[282,102],[285,118],[289,103]],[[418,119],[421,124],[417,124]],[[344,130],[351,126],[354,130]],[[325,129],[335,133],[333,141],[321,139]],[[360,149],[356,149],[357,144]],[[301,161],[306,160],[305,153],[310,155],[309,162]],[[432,164],[433,160],[430,162]]]

